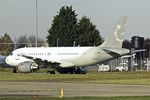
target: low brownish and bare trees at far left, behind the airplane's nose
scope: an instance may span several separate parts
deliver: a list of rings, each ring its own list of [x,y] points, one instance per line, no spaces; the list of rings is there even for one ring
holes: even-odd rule
[[[41,47],[43,45],[45,45],[45,41],[38,38],[38,46]],[[14,49],[23,47],[35,47],[35,36],[21,35],[15,41],[12,41],[7,33],[0,37],[0,55],[7,56]]]

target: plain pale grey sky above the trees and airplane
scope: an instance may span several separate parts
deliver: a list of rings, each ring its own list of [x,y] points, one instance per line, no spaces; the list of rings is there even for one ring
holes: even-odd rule
[[[0,36],[13,38],[35,34],[36,0],[0,0]],[[45,39],[53,16],[62,6],[71,6],[78,19],[87,16],[106,38],[120,16],[128,16],[125,38],[150,38],[150,0],[38,0],[38,35]]]

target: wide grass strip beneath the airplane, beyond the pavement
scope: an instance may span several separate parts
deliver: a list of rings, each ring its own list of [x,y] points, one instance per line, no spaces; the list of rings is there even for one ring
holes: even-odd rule
[[[89,74],[12,73],[11,68],[0,68],[0,81],[54,81],[97,84],[150,85],[150,72],[103,72]]]

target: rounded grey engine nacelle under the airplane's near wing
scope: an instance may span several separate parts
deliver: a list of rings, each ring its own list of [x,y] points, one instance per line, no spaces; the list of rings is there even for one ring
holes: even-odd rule
[[[23,62],[18,65],[18,72],[29,73],[39,69],[38,65],[34,62]]]

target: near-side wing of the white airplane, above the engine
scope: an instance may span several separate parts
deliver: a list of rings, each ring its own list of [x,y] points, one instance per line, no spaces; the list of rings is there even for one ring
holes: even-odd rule
[[[27,55],[22,55],[22,57],[25,57],[27,59],[31,59],[35,61],[39,66],[52,66],[52,67],[72,67],[74,64],[68,62],[68,61],[58,61],[58,60],[47,60],[43,58],[38,57],[32,57]]]

